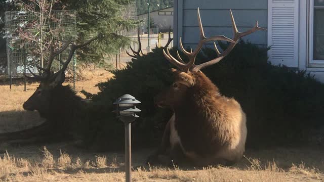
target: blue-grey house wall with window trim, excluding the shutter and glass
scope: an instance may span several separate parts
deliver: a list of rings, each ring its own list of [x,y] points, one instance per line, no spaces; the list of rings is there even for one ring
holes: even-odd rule
[[[259,26],[268,28],[268,2],[270,0],[174,0],[174,45],[179,47],[179,38],[182,37],[184,47],[195,48],[199,41],[199,28],[197,23],[197,8],[199,7],[201,21],[207,37],[225,35],[232,37],[232,25],[229,9],[232,10],[239,31],[245,31],[259,21]],[[275,1],[276,3],[278,1]],[[306,70],[315,78],[324,83],[324,64],[309,64],[309,1],[294,0],[284,3],[298,3],[298,46],[294,48],[298,56],[297,66]],[[243,37],[252,43],[267,47],[268,32],[257,31]],[[212,46],[212,42],[207,46]],[[269,60],[273,61],[273,60]],[[273,64],[276,64],[273,62]]]

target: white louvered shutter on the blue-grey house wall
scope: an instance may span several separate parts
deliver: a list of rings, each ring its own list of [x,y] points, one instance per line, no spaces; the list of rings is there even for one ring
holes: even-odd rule
[[[268,0],[268,57],[271,63],[298,67],[299,0]]]

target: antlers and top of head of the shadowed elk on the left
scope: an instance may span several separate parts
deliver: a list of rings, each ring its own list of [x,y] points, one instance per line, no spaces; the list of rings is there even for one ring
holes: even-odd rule
[[[94,37],[94,38],[92,38],[92,39],[90,39],[90,40],[88,40],[88,41],[86,41],[86,42],[84,42],[82,44],[79,44],[79,45],[72,44],[69,55],[67,57],[67,60],[65,62],[61,61],[61,64],[63,66],[55,74],[51,74],[51,66],[52,66],[53,60],[57,55],[61,54],[64,50],[67,49],[67,47],[72,42],[72,40],[71,39],[67,40],[64,43],[64,45],[62,46],[62,48],[57,50],[57,51],[54,50],[53,44],[51,44],[50,47],[49,47],[50,55],[49,55],[49,58],[47,60],[47,66],[44,68],[44,67],[36,65],[36,67],[39,70],[43,71],[43,74],[42,75],[36,75],[32,71],[30,71],[30,69],[28,69],[28,71],[33,75],[33,77],[29,77],[29,76],[26,76],[26,77],[28,77],[29,79],[37,80],[37,81],[47,81],[47,82],[49,82],[49,84],[63,83],[64,79],[65,79],[64,71],[66,70],[68,64],[70,63],[70,61],[71,61],[71,59],[72,59],[72,57],[74,55],[75,50],[88,45],[89,43],[91,43],[92,41],[94,41],[97,38],[98,38],[98,36],[96,36],[96,37]]]

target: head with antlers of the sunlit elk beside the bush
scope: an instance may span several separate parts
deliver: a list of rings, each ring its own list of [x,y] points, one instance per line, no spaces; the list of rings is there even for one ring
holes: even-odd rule
[[[232,49],[235,47],[237,41],[239,38],[249,35],[255,31],[258,30],[266,30],[264,28],[260,28],[258,26],[258,21],[256,22],[256,25],[246,31],[246,32],[239,32],[237,30],[234,17],[232,14],[232,11],[230,10],[230,16],[232,20],[232,26],[233,26],[233,38],[227,38],[224,35],[217,35],[217,36],[212,36],[212,37],[206,37],[203,29],[203,25],[201,24],[201,19],[200,19],[200,13],[199,13],[199,8],[197,9],[197,17],[198,17],[198,25],[199,25],[199,30],[200,30],[200,40],[197,44],[196,49],[192,52],[187,52],[182,45],[182,40],[180,37],[180,48],[182,52],[189,58],[189,62],[185,63],[179,53],[177,52],[177,58],[174,58],[168,49],[163,50],[164,56],[174,65],[176,66],[179,70],[172,69],[172,72],[174,74],[175,80],[173,84],[171,85],[170,88],[166,89],[164,92],[161,92],[154,100],[155,104],[159,107],[168,107],[168,108],[173,108],[177,107],[180,105],[180,103],[183,103],[182,100],[184,98],[190,98],[186,97],[186,95],[192,95],[194,94],[193,89],[204,89],[206,92],[211,92],[211,94],[218,94],[218,88],[216,86],[209,86],[209,85],[214,85],[205,75],[202,73],[200,70],[211,66],[213,64],[218,63],[221,61],[224,57],[226,57]],[[217,45],[214,42],[214,47],[216,50],[216,53],[218,55],[217,58],[207,61],[203,64],[200,65],[195,65],[195,58],[201,48],[203,47],[203,44],[209,41],[216,41],[216,40],[224,40],[228,41],[229,45],[226,50],[224,50],[222,53],[219,52],[217,49]],[[189,92],[191,90],[192,92]]]

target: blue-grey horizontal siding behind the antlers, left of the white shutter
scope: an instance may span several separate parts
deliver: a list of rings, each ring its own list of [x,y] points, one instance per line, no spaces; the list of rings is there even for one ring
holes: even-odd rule
[[[253,27],[256,21],[259,26],[267,28],[268,1],[267,0],[175,0],[175,45],[178,45],[180,36],[184,47],[194,48],[199,40],[197,23],[197,8],[203,23],[205,35],[225,35],[232,37],[232,24],[229,9],[232,10],[239,31]],[[261,46],[267,46],[267,31],[258,31],[243,38]],[[212,45],[213,42],[209,44]]]

